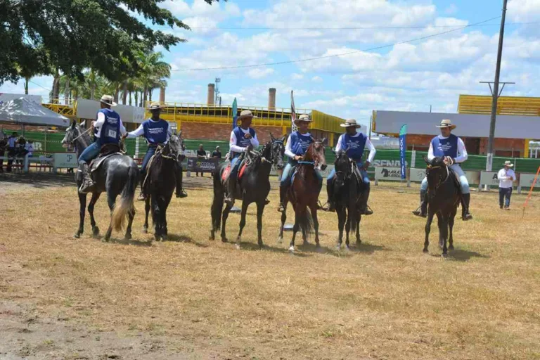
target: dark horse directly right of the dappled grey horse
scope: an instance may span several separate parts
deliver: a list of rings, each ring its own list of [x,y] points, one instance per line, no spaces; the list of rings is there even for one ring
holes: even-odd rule
[[[146,169],[146,179],[143,179],[146,193],[143,232],[148,233],[148,212],[151,210],[156,241],[167,237],[167,207],[176,188],[177,162],[183,156],[184,140],[180,132],[178,136],[172,135],[165,146],[158,146]]]

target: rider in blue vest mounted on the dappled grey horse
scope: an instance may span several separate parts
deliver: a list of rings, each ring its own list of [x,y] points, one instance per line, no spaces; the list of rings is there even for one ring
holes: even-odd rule
[[[94,186],[94,181],[90,176],[89,162],[99,155],[101,147],[108,144],[114,144],[120,148],[120,134],[126,134],[126,128],[120,120],[120,115],[115,110],[111,110],[112,106],[117,104],[113,101],[113,96],[101,96],[101,110],[96,115],[96,121],[93,121],[91,126],[94,127],[94,143],[84,149],[79,156],[79,167],[82,171],[82,185],[79,188],[79,193],[89,193]]]

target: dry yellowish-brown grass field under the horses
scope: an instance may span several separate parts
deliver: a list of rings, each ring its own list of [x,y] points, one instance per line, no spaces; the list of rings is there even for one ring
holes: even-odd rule
[[[423,254],[418,188],[373,186],[363,243],[335,251],[323,213],[321,251],[276,243],[277,191],[257,248],[255,207],[243,248],[208,240],[210,179],[186,179],[169,207],[168,241],[72,237],[70,177],[0,176],[0,359],[540,359],[540,196],[522,219],[473,193],[442,259],[437,226]],[[461,210],[460,210],[461,211]],[[98,226],[108,224],[105,199]],[[293,214],[289,210],[292,220]],[[229,239],[239,217],[229,217]]]

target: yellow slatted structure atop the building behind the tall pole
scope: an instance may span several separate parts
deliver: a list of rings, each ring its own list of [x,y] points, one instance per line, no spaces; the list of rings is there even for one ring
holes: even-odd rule
[[[458,113],[491,114],[491,96],[460,95]],[[498,115],[540,116],[540,98],[499,96]]]

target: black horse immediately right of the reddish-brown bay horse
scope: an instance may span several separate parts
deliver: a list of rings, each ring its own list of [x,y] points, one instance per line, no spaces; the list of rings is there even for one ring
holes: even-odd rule
[[[335,154],[335,177],[333,181],[333,203],[338,214],[338,250],[343,243],[343,227],[345,226],[345,245],[349,249],[349,231],[356,231],[356,245],[360,240],[360,208],[361,195],[364,192],[364,181],[358,173],[356,162],[349,159],[343,150]],[[357,174],[358,173],[358,174]]]

